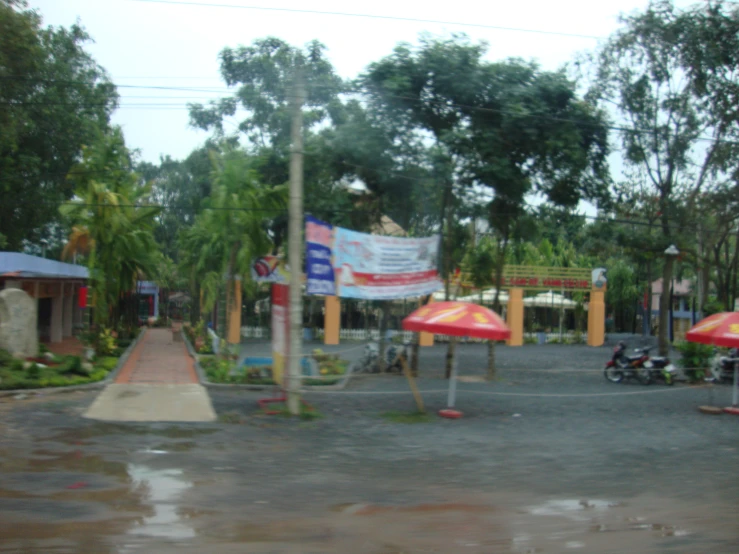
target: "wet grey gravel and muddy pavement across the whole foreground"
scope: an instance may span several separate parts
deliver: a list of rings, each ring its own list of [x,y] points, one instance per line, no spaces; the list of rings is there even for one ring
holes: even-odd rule
[[[0,552],[735,553],[739,418],[729,387],[613,385],[502,368],[460,383],[458,421],[401,378],[313,392],[212,390],[213,423],[111,423],[95,391],[0,399]],[[473,372],[471,372],[473,373]],[[446,382],[422,378],[430,410]]]

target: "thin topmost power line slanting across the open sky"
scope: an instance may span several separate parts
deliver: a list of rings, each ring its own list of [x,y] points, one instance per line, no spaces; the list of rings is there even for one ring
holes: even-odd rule
[[[378,14],[367,14],[367,13],[353,13],[353,12],[339,12],[339,11],[324,11],[324,10],[308,10],[299,8],[275,8],[266,6],[247,6],[240,4],[210,4],[206,2],[183,2],[180,0],[132,0],[133,2],[147,2],[151,4],[169,4],[176,6],[192,6],[192,7],[207,7],[207,8],[231,8],[240,10],[255,10],[255,11],[269,11],[269,12],[282,12],[282,13],[302,13],[311,15],[332,15],[340,17],[358,17],[365,19],[378,19],[386,21],[405,21],[407,23],[431,23],[434,25],[453,25],[456,27],[470,27],[477,29],[491,29],[494,31],[510,31],[516,33],[531,33],[539,35],[550,35],[567,38],[579,38],[588,40],[600,40],[603,37],[597,37],[594,35],[584,35],[578,33],[565,33],[562,31],[548,31],[544,29],[525,29],[522,27],[505,27],[502,25],[486,25],[483,23],[468,23],[463,21],[442,21],[438,19],[422,19],[417,17],[400,17],[395,15],[378,15]]]

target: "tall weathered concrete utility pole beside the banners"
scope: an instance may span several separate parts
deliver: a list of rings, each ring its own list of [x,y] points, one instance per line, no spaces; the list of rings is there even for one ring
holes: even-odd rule
[[[296,67],[291,98],[288,263],[290,265],[290,351],[287,366],[287,409],[300,414],[300,359],[303,351],[303,73]]]

